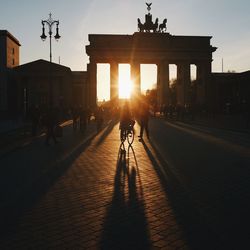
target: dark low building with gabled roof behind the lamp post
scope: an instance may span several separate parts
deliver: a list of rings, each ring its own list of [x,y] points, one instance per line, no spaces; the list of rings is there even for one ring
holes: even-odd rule
[[[41,59],[26,63],[12,70],[10,84],[14,114],[25,116],[35,106],[67,109],[72,103],[72,72],[66,66]]]

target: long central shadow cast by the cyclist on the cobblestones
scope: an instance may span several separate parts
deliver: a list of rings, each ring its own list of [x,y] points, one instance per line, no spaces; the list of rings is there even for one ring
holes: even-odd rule
[[[129,157],[135,165],[130,164]],[[119,148],[114,193],[103,225],[100,249],[151,249],[134,150]]]

